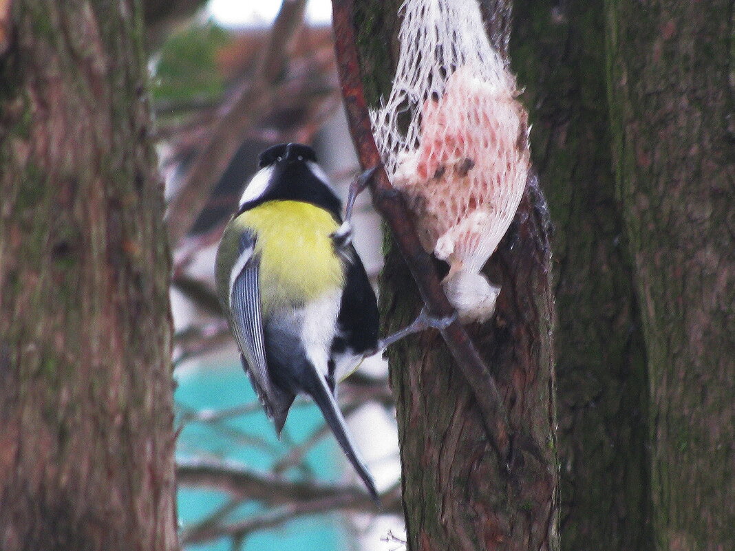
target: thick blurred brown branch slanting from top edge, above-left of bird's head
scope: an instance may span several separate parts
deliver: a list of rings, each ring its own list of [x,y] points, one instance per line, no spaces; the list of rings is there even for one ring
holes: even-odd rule
[[[199,151],[187,171],[166,216],[171,245],[176,246],[191,228],[240,147],[243,136],[253,126],[255,116],[273,101],[268,89],[275,84],[282,71],[290,43],[304,18],[305,4],[305,0],[284,0],[273,24],[265,57],[254,79],[245,84],[243,90],[223,109],[207,145]]]

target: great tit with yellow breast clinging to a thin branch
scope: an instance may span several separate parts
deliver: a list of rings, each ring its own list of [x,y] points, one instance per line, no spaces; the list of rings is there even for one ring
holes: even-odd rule
[[[311,396],[377,500],[334,396],[379,345],[376,296],[341,211],[312,148],[265,150],[222,235],[218,296],[276,432],[295,396]]]

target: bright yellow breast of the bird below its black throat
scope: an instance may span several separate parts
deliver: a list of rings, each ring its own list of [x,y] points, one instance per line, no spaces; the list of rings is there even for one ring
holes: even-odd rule
[[[300,201],[268,201],[237,217],[256,234],[263,310],[298,306],[343,287],[345,271],[331,234],[339,227],[325,209]]]

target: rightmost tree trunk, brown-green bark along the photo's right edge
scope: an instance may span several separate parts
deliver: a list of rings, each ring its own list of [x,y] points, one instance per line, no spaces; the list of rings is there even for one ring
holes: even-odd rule
[[[659,550],[735,549],[733,10],[731,0],[606,2]]]

